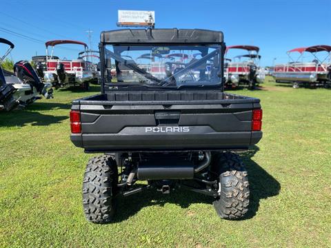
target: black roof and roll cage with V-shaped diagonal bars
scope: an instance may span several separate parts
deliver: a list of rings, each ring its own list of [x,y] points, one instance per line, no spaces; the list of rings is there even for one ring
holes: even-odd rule
[[[221,87],[223,87],[223,59],[225,53],[225,43],[223,42],[223,32],[217,32],[212,30],[199,30],[199,29],[124,29],[124,30],[111,30],[101,32],[101,39],[99,43],[100,50],[100,60],[101,60],[101,92],[105,92],[105,55],[106,53],[112,56],[117,61],[123,63],[127,68],[134,70],[147,79],[151,79],[156,81],[159,86],[163,86],[168,84],[167,77],[165,80],[157,79],[152,74],[146,72],[146,70],[142,70],[137,65],[133,63],[128,63],[129,61],[123,59],[123,57],[115,54],[114,52],[106,51],[106,45],[220,45],[220,50],[214,50],[203,56],[201,59],[194,61],[186,68],[179,70],[174,73],[172,76],[181,76],[188,70],[194,68],[194,66],[199,66],[204,61],[208,61],[213,56],[220,54],[220,65],[221,70],[218,73],[218,76],[221,77],[222,83]]]

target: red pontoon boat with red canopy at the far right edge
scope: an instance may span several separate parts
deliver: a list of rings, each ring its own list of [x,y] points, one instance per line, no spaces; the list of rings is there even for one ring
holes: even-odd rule
[[[292,59],[291,54],[299,52],[297,60]],[[327,52],[328,56],[320,59],[317,56],[321,52]],[[314,56],[313,61],[303,61],[304,54],[310,53]],[[277,83],[292,83],[294,88],[300,85],[324,86],[331,85],[331,46],[313,45],[307,48],[294,48],[287,52],[290,61],[288,63],[274,66],[272,76]],[[301,61],[300,61],[301,60]]]

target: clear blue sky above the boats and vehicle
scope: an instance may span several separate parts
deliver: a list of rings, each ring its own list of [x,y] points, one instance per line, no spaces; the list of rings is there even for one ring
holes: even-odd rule
[[[15,62],[46,54],[48,40],[89,43],[89,29],[95,50],[101,31],[119,29],[117,10],[154,10],[155,28],[220,30],[226,45],[259,46],[263,66],[285,63],[292,48],[331,45],[331,0],[1,0],[0,37],[15,44]],[[76,59],[82,48],[62,45],[54,54]]]

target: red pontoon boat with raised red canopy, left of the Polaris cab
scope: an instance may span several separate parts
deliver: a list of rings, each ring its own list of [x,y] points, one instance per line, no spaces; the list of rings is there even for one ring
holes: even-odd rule
[[[85,51],[88,51],[88,45],[81,41],[55,40],[47,41],[46,59],[47,71],[44,73],[44,81],[51,82],[55,87],[81,86],[85,90],[90,87],[90,81],[93,79],[92,63],[87,59],[58,59],[54,54],[54,46],[61,44],[83,45]],[[50,55],[48,47],[51,48]]]

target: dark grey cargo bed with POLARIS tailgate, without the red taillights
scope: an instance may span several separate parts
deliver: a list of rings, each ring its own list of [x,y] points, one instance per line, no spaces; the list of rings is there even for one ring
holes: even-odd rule
[[[247,149],[259,99],[216,90],[108,91],[72,102],[86,152]]]

